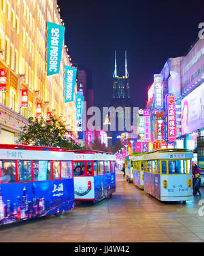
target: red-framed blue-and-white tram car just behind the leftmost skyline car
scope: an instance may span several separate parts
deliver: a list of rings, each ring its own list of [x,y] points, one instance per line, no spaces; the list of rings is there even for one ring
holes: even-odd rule
[[[73,152],[75,200],[99,202],[110,197],[116,191],[115,155],[96,150]]]

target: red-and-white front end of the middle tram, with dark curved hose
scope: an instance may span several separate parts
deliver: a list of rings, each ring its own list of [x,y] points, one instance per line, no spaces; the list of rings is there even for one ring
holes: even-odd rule
[[[73,161],[73,182],[75,199],[95,198],[93,161]]]

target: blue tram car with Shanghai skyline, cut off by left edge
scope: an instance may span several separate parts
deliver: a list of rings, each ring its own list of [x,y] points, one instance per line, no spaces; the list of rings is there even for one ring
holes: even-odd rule
[[[75,206],[75,154],[66,148],[0,144],[0,225]]]

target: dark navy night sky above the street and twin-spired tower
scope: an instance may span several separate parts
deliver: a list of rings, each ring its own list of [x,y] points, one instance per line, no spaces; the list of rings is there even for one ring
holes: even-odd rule
[[[112,102],[114,51],[124,76],[127,50],[131,101],[145,108],[148,86],[169,57],[185,56],[204,22],[204,1],[58,0],[65,44],[75,63],[94,72],[95,106]]]

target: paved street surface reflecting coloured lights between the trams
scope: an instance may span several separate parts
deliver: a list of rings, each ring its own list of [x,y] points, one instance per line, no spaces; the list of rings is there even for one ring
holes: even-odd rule
[[[61,217],[5,225],[0,242],[204,242],[203,188],[201,193],[186,204],[158,202],[118,172],[110,199],[78,203]]]

